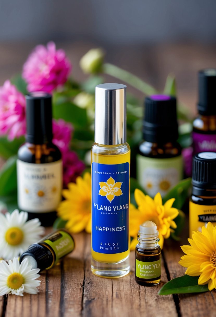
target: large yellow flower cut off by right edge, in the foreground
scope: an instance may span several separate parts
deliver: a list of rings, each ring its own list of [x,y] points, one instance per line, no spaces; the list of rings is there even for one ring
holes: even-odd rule
[[[211,291],[216,288],[216,226],[211,222],[202,227],[202,232],[193,231],[192,239],[187,239],[190,245],[183,245],[181,249],[186,255],[179,263],[187,268],[185,274],[199,276],[198,284],[208,283]]]

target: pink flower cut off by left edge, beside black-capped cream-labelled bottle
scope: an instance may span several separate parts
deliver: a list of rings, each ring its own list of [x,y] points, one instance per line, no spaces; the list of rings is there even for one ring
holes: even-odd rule
[[[0,87],[0,135],[8,134],[10,140],[25,134],[25,97],[10,81]]]

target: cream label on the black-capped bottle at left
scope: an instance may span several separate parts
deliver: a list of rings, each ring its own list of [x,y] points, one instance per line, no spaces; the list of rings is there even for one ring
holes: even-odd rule
[[[34,213],[54,211],[61,200],[62,161],[33,164],[17,160],[18,206]]]

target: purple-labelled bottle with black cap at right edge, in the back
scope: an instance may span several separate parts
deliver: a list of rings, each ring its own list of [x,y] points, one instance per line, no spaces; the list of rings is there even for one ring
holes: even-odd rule
[[[216,152],[216,69],[199,72],[198,116],[193,122],[193,150]]]

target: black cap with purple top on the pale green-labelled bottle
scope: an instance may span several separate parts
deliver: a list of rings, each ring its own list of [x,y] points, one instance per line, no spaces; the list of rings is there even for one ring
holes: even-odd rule
[[[145,98],[143,138],[148,142],[172,142],[178,139],[176,99],[167,95]]]

